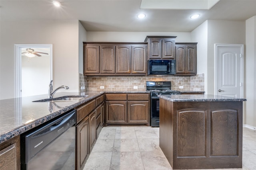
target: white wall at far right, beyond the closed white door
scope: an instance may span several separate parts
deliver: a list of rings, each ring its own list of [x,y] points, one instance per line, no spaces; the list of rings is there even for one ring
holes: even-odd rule
[[[246,117],[244,123],[256,127],[256,16],[246,20]]]

